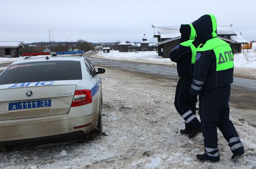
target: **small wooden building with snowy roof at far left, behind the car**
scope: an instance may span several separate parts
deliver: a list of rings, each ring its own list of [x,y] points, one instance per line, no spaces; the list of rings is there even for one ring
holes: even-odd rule
[[[22,42],[0,42],[0,57],[20,57]]]

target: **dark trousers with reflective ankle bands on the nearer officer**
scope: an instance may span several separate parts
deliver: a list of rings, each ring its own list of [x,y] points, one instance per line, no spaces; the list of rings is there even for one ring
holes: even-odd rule
[[[204,89],[200,95],[199,115],[205,152],[209,158],[219,158],[217,127],[229,142],[234,154],[242,154],[243,144],[229,119],[230,85],[222,88]]]

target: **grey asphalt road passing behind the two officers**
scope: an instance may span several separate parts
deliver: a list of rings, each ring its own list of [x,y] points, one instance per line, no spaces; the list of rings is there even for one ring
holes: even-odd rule
[[[135,63],[135,62],[127,62],[127,61],[115,61],[115,60],[99,59],[99,58],[93,58],[93,57],[88,57],[88,58],[93,64],[97,66],[132,70],[132,71],[137,71],[142,73],[148,73],[148,74],[154,74],[154,75],[160,75],[160,76],[178,79],[177,69],[176,67],[172,67],[172,66],[163,66],[163,65],[155,65],[155,64],[147,64],[147,63]],[[234,77],[232,88],[244,89],[244,90],[256,92],[256,80]]]

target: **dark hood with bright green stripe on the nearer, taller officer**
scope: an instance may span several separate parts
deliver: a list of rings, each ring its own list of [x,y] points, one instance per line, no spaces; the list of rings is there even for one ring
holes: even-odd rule
[[[216,18],[212,14],[203,15],[192,25],[196,31],[195,41],[199,44],[205,44],[207,40],[217,37]]]

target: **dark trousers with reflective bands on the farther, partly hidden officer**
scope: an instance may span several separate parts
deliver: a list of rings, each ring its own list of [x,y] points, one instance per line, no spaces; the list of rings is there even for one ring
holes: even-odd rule
[[[200,126],[195,117],[195,103],[189,100],[189,89],[193,78],[180,78],[176,87],[174,105],[177,112],[185,120],[185,127],[188,131]]]

